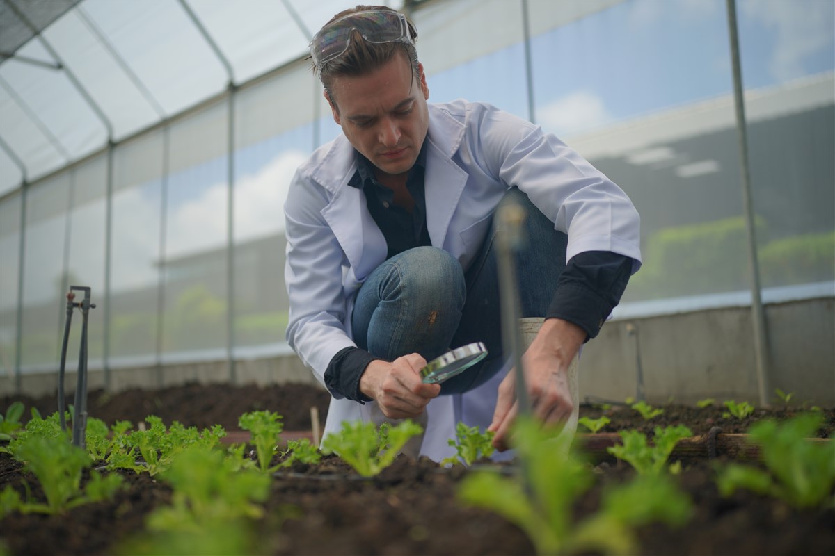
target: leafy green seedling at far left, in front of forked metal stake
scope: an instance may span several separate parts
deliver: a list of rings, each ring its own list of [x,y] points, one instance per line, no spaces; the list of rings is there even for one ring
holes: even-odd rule
[[[23,501],[7,487],[0,496],[3,501],[0,513],[13,510],[64,513],[83,503],[112,498],[122,485],[119,475],[102,476],[93,470],[86,487],[81,488],[82,472],[93,462],[83,448],[73,446],[67,438],[30,436],[16,446],[13,455],[38,478],[47,503]]]

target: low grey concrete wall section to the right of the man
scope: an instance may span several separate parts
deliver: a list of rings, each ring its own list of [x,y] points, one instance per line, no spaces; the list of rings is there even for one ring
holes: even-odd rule
[[[835,405],[835,299],[766,306],[769,384],[792,402]],[[650,403],[704,398],[759,403],[750,308],[721,308],[606,323],[580,360],[580,398]]]

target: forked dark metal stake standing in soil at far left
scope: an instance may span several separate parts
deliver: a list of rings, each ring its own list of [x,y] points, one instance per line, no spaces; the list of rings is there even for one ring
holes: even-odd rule
[[[84,293],[80,303],[75,303],[75,291]],[[95,308],[95,303],[90,303],[90,288],[87,286],[70,286],[67,294],[67,319],[63,328],[63,343],[61,345],[61,364],[58,368],[58,416],[61,420],[61,429],[67,429],[64,418],[65,400],[63,393],[63,375],[67,367],[67,343],[69,340],[69,326],[73,318],[73,308],[81,308],[81,343],[78,348],[78,380],[75,387],[75,407],[73,413],[73,444],[80,448],[85,447],[87,433],[87,321],[90,309]]]

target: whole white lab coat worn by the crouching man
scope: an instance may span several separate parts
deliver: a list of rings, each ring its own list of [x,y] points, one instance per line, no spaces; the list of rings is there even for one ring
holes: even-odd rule
[[[640,218],[626,194],[554,135],[484,103],[429,104],[425,174],[429,238],[468,268],[508,188],[518,186],[568,233],[567,260],[584,251],[612,251],[640,266]],[[351,313],[363,280],[387,254],[362,189],[347,185],[357,170],[344,135],[318,148],[296,171],[285,203],[290,296],[286,338],[324,385],[331,358],[355,346]],[[428,404],[421,455],[454,453],[458,420],[487,426],[495,387],[441,396]],[[337,394],[338,395],[338,394]],[[379,422],[376,403],[331,399],[323,436],[343,421]]]

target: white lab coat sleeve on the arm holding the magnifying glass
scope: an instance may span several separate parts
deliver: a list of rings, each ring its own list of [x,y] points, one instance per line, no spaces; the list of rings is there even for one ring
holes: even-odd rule
[[[321,215],[327,203],[323,188],[296,173],[284,208],[285,283],[290,298],[286,339],[323,386],[331,358],[343,348],[356,346],[345,324],[344,253]],[[331,395],[342,398],[339,393]]]

